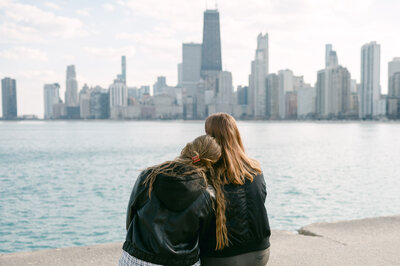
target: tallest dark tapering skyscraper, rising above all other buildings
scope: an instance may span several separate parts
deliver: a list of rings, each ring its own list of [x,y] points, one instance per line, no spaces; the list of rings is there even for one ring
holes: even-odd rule
[[[204,12],[201,71],[221,71],[221,36],[218,10]]]

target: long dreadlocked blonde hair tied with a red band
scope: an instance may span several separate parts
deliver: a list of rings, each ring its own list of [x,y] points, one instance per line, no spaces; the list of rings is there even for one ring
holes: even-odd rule
[[[197,137],[192,142],[186,144],[178,158],[167,161],[160,165],[148,168],[149,174],[143,184],[149,186],[149,197],[153,190],[153,184],[159,174],[169,176],[182,176],[197,173],[204,178],[206,184],[210,183],[215,189],[216,202],[213,205],[216,217],[216,250],[228,246],[228,233],[226,229],[225,209],[226,202],[223,193],[223,184],[216,176],[214,164],[221,158],[221,146],[209,135]],[[182,166],[191,166],[183,173],[179,172]]]

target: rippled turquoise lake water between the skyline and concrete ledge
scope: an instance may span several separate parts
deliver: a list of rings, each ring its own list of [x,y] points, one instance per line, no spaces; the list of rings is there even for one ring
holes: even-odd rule
[[[273,229],[400,213],[400,124],[239,122]],[[202,122],[0,122],[0,253],[123,241],[141,169]]]

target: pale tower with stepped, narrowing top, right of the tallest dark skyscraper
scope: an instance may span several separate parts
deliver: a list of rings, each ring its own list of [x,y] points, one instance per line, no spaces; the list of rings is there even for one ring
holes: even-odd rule
[[[251,62],[249,99],[251,112],[256,118],[267,116],[266,77],[268,75],[268,33],[257,36],[255,58]]]

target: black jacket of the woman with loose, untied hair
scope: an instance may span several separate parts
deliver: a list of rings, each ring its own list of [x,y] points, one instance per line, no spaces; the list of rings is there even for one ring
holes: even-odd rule
[[[253,182],[246,179],[244,185],[225,185],[224,190],[229,246],[215,251],[213,221],[206,233],[209,238],[201,243],[201,256],[231,257],[268,248],[271,230],[265,208],[267,190],[264,175],[254,176]]]

